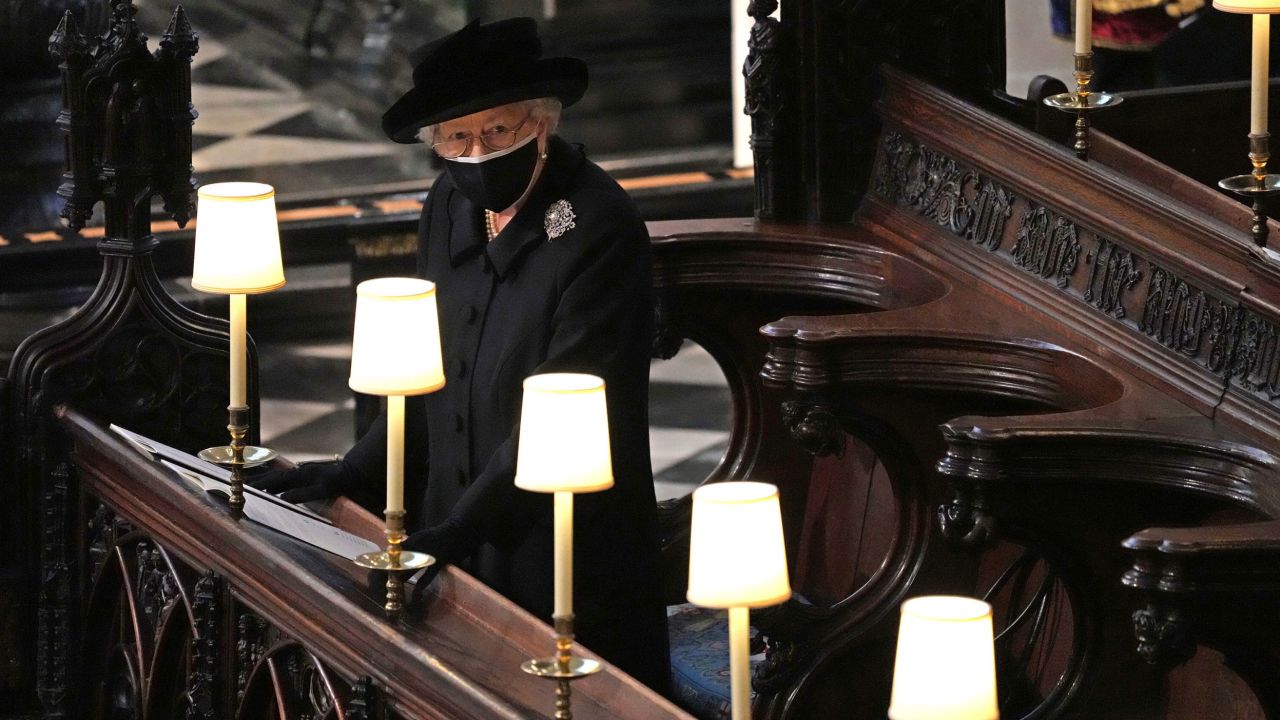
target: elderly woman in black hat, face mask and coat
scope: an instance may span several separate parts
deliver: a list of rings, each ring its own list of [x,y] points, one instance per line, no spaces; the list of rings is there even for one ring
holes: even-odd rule
[[[586,90],[586,65],[541,58],[529,18],[471,23],[415,61],[413,88],[383,129],[444,160],[419,224],[419,274],[438,287],[447,383],[407,402],[406,506],[417,529],[404,544],[548,620],[550,498],[512,484],[521,383],[548,372],[600,375],[616,484],[576,503],[576,635],[666,689],[648,442],[649,237],[622,188],[554,135],[561,106]],[[380,421],[343,460],[262,484],[294,488],[284,493],[293,500],[380,488],[384,448]]]

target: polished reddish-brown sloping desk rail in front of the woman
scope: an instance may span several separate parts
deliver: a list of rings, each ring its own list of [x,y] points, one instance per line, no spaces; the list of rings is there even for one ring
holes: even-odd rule
[[[170,557],[220,577],[237,603],[300,643],[334,676],[371,680],[397,716],[525,719],[554,712],[553,683],[520,670],[524,660],[553,652],[554,633],[466,573],[445,569],[403,620],[388,621],[380,584],[370,587],[366,571],[352,562],[237,521],[212,496],[140,457],[97,423],[70,409],[59,416],[74,442],[86,493]],[[379,534],[376,520],[344,503],[335,510],[334,518],[360,534]],[[186,688],[186,678],[173,685]],[[234,684],[224,688],[234,694]],[[577,717],[689,717],[607,664],[599,675],[575,683],[572,697]]]

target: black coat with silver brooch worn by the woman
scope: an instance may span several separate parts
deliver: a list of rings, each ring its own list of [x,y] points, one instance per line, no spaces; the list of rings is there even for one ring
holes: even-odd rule
[[[548,233],[550,209],[561,209],[558,233]],[[406,401],[407,521],[421,530],[406,546],[460,562],[549,621],[552,497],[512,484],[521,383],[549,372],[600,375],[614,487],[575,497],[576,635],[663,688],[648,430],[653,287],[635,205],[553,137],[529,200],[492,242],[481,209],[448,174],[436,179],[419,228],[419,274],[436,284],[445,386]],[[385,483],[384,420],[344,464],[366,488]]]

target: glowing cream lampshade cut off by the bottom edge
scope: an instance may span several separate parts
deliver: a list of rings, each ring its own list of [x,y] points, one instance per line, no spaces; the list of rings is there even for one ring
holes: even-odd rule
[[[972,597],[902,603],[890,720],[997,720],[991,606]]]

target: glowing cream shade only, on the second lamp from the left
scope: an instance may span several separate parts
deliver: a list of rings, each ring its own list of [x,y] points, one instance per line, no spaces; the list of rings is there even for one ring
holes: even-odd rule
[[[422,395],[444,387],[434,283],[378,278],[356,286],[347,384],[369,395]]]

